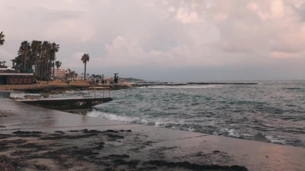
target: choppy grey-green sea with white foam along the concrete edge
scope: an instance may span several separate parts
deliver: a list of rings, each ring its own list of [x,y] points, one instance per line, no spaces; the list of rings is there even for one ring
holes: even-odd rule
[[[221,82],[258,84],[151,85],[113,90],[113,101],[94,106],[87,115],[242,139],[262,133],[273,143],[305,147],[305,80]],[[62,97],[88,97],[88,91],[50,96]]]

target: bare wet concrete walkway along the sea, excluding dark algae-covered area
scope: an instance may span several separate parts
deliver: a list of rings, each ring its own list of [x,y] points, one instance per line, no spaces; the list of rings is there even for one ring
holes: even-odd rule
[[[122,133],[127,138],[124,144],[118,145],[124,142],[122,140],[112,141],[112,144],[109,140],[109,146],[117,146],[104,148],[103,153],[128,153],[131,158],[144,160],[154,158],[200,164],[242,165],[249,170],[305,170],[305,148],[301,147],[105,120],[39,108],[0,97],[0,133],[10,134],[17,129],[46,133],[58,130],[130,129],[130,134]],[[74,142],[77,141],[74,139]],[[86,145],[87,142],[79,140],[79,143]],[[136,151],[132,151],[132,147]],[[157,156],[150,156],[152,153]]]

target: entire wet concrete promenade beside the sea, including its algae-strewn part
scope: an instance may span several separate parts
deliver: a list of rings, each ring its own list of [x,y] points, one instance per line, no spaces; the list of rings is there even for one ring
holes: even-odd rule
[[[42,133],[39,134],[40,137],[36,137],[34,132],[26,137],[25,134],[21,133],[21,136],[16,133],[17,130]],[[99,119],[31,106],[4,97],[0,97],[0,134],[3,134],[2,138],[0,135],[0,144],[3,139],[16,140],[22,137],[28,144],[45,145],[36,151],[32,150],[32,155],[25,154],[29,165],[18,165],[22,163],[21,160],[18,163],[6,161],[21,170],[192,169],[191,165],[180,163],[183,161],[196,163],[196,167],[200,164],[218,164],[245,166],[248,170],[305,170],[305,148],[301,147]],[[14,141],[11,142],[12,144],[7,144],[8,148],[0,148],[0,156],[12,158],[17,156],[12,154],[14,151],[32,149],[22,145],[14,146]],[[99,146],[93,148],[93,144]],[[65,148],[67,153],[73,153],[70,150],[73,146],[79,149],[78,154],[82,147],[86,147],[90,149],[87,151],[91,151],[91,155],[84,154],[86,157],[81,159],[67,157],[64,163],[61,161],[64,159],[57,160],[56,157],[66,154],[56,153],[58,155],[53,158],[47,155],[50,154],[46,153],[48,150],[64,150],[62,146],[70,147]],[[76,162],[77,160],[81,162]],[[6,164],[0,159],[0,167],[1,162]],[[227,170],[238,170],[234,168]]]

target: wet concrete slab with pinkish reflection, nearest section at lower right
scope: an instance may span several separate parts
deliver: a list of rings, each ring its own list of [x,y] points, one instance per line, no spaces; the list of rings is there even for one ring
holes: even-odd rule
[[[305,148],[208,135],[152,143],[173,148],[166,158],[190,156],[193,162],[245,165],[249,170],[305,170]]]

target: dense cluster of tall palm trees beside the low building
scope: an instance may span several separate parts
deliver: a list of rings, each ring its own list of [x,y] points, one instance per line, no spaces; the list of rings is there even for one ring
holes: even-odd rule
[[[34,75],[39,79],[49,80],[51,68],[55,75],[56,53],[59,51],[59,44],[50,41],[33,40],[30,44],[23,41],[18,50],[18,56],[12,59],[13,67],[23,72],[34,70]]]

